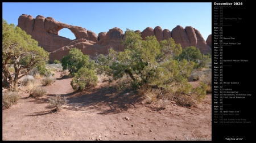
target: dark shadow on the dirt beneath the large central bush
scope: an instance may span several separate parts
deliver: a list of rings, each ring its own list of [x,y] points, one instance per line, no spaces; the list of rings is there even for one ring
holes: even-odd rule
[[[61,95],[66,96],[66,95]],[[66,96],[67,97],[67,96]],[[118,93],[114,88],[91,88],[82,92],[69,94],[68,106],[65,109],[75,111],[97,110],[97,114],[116,114],[134,107],[143,100],[136,92],[128,95]]]

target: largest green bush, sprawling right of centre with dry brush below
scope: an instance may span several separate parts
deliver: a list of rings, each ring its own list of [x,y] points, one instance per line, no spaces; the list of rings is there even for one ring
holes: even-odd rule
[[[163,108],[167,100],[174,96],[179,96],[179,101],[186,106],[193,105],[193,98],[200,101],[204,97],[206,88],[203,84],[193,89],[188,83],[193,68],[203,66],[201,61],[207,59],[206,56],[202,58],[196,47],[183,50],[180,44],[175,44],[173,38],[159,42],[155,36],[147,36],[146,40],[142,40],[140,33],[129,29],[121,43],[125,47],[124,51],[109,49],[108,55],[97,55],[97,73],[108,75],[114,81],[129,76],[130,87],[141,92],[143,87],[159,90],[161,96],[152,92],[144,94],[149,101],[161,98]]]

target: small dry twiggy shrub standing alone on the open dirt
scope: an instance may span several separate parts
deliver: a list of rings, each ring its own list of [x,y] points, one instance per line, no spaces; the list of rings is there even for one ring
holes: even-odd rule
[[[51,106],[56,107],[56,111],[61,111],[62,106],[66,105],[68,103],[68,100],[66,97],[62,97],[57,94],[56,97],[49,97],[49,104]]]

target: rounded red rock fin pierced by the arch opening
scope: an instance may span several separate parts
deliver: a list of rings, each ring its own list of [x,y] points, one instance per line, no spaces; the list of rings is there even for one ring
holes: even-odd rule
[[[72,40],[59,36],[59,31],[68,28],[74,33],[76,39],[85,38],[91,41],[97,41],[97,34],[92,31],[86,31],[85,28],[77,27],[55,21],[51,17],[44,18],[38,15],[34,19],[30,15],[20,15],[18,19],[18,27],[30,34],[32,38],[38,41],[39,46],[51,52],[67,46]],[[89,36],[88,36],[89,34]]]

